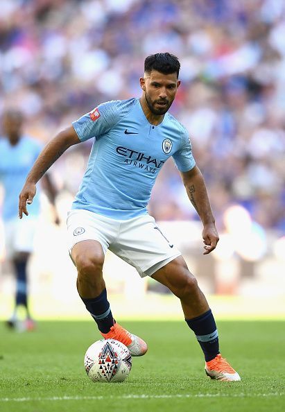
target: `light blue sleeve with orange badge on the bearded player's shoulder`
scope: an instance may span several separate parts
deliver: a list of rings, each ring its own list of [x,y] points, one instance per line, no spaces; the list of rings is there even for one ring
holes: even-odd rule
[[[128,113],[134,100],[107,101],[98,105],[92,112],[84,114],[83,117],[74,121],[72,125],[79,139],[85,141],[92,137],[104,135],[112,130],[116,123]]]

